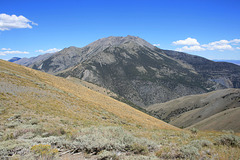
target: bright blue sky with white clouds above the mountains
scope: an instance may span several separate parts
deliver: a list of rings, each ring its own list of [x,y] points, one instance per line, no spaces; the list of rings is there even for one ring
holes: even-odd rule
[[[127,35],[162,49],[240,60],[240,1],[0,0],[0,59]]]

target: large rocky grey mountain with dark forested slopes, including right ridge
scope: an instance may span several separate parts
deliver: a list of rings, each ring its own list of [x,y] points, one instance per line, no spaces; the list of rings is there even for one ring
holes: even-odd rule
[[[145,107],[185,95],[240,87],[239,66],[223,63],[219,69],[215,64],[127,36],[99,39],[83,48],[65,48],[26,66],[97,84]]]

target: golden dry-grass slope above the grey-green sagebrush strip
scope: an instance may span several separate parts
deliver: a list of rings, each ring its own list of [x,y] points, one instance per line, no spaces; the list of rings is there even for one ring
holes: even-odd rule
[[[32,114],[79,120],[79,125],[86,122],[175,128],[64,78],[3,60],[0,63],[1,122],[13,114]]]

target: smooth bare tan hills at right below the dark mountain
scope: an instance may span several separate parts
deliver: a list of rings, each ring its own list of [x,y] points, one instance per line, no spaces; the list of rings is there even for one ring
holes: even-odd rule
[[[201,130],[240,132],[240,89],[224,89],[151,105],[147,110],[170,124]]]

